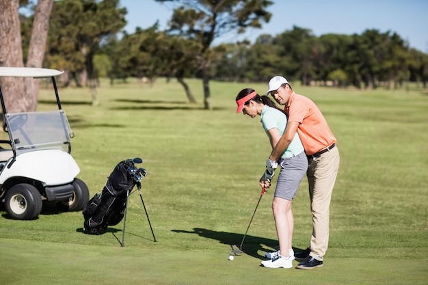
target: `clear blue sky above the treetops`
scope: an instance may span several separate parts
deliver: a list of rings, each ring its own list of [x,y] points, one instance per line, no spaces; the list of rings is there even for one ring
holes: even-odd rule
[[[276,36],[297,26],[310,29],[315,36],[326,33],[362,34],[366,29],[397,33],[410,47],[428,53],[428,0],[272,0],[271,20],[262,29],[248,29],[242,35],[232,31],[213,44],[248,39],[263,33]],[[155,0],[120,0],[128,11],[127,33],[136,27],[147,29],[159,21],[159,29],[168,27],[171,5]]]

